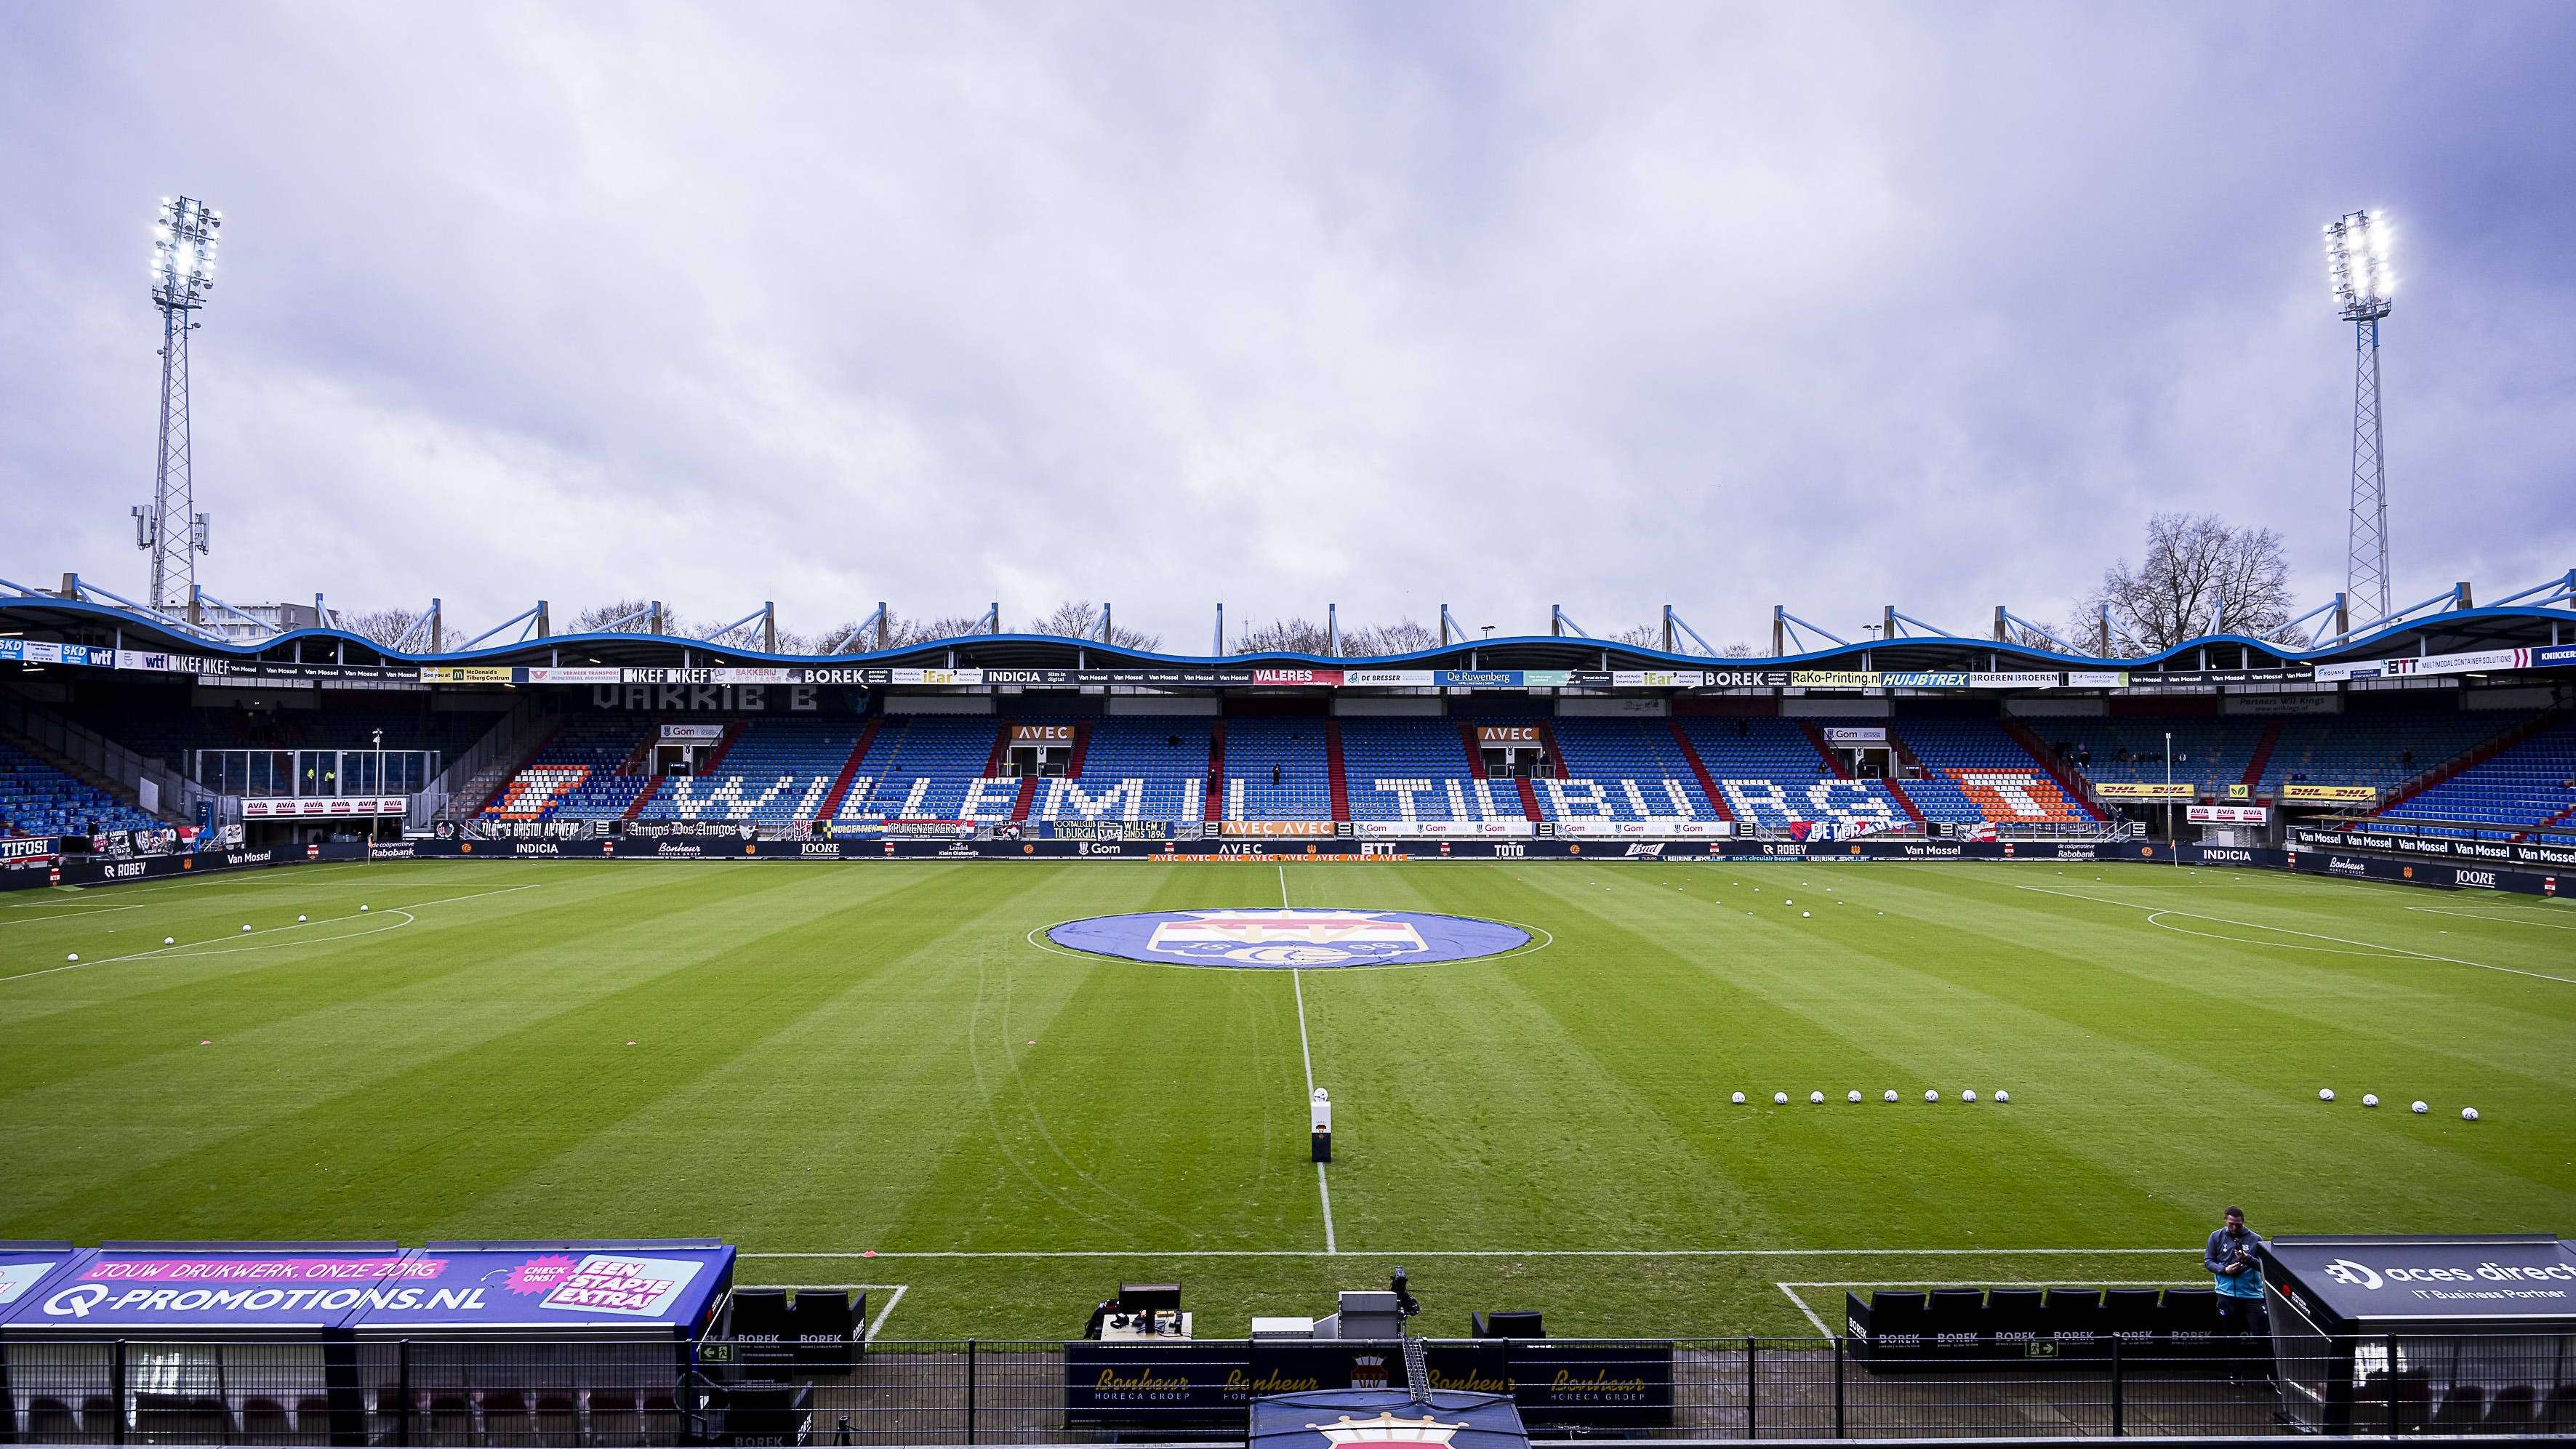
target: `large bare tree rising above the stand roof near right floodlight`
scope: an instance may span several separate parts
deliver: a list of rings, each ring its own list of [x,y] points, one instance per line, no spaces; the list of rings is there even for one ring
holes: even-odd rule
[[[2146,525],[2146,561],[2102,571],[2084,618],[2110,610],[2115,643],[2146,654],[2210,633],[2275,638],[2290,623],[2290,564],[2269,528],[2231,528],[2213,512],[2159,512]],[[2094,633],[2094,631],[2084,631]]]

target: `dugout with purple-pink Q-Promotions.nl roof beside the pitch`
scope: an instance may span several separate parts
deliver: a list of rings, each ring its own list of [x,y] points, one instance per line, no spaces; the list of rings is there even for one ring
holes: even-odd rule
[[[31,1441],[670,1441],[732,1271],[706,1241],[13,1246],[0,1385]]]

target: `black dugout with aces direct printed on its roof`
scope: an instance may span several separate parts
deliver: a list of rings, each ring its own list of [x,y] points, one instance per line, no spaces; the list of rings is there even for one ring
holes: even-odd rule
[[[2576,1251],[2550,1235],[2272,1238],[2280,1413],[2321,1434],[2576,1431]]]

